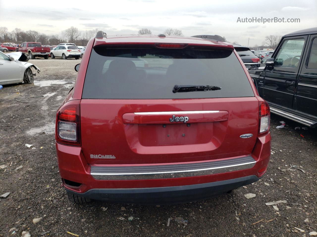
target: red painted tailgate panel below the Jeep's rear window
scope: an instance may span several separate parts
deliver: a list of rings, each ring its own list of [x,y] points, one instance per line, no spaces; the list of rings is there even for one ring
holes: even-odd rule
[[[157,163],[220,159],[252,152],[258,131],[256,97],[180,100],[81,100],[81,144],[89,163]],[[124,124],[134,112],[219,110],[228,112],[221,122],[162,125]],[[191,120],[191,115],[189,116]],[[167,120],[168,121],[168,120]],[[188,133],[188,135],[186,135]],[[167,135],[170,134],[170,137]],[[182,136],[185,134],[185,137]],[[90,155],[116,159],[90,159]]]

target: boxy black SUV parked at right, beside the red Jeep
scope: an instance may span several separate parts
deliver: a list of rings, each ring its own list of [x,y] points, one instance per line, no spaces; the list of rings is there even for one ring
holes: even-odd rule
[[[317,27],[284,35],[265,65],[249,73],[271,112],[317,127]]]

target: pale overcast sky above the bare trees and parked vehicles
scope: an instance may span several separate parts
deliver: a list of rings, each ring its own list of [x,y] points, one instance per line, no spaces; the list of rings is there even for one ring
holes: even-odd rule
[[[71,26],[81,31],[98,28],[108,35],[153,34],[166,28],[181,29],[185,36],[218,34],[242,45],[261,45],[266,35],[284,35],[317,26],[317,1],[8,1],[0,0],[0,27],[61,34]],[[240,23],[240,18],[300,18],[300,23]]]

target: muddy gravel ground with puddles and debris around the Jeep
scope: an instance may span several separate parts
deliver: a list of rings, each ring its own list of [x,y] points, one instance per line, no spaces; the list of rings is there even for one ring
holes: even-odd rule
[[[79,236],[267,237],[310,236],[317,231],[317,130],[294,130],[304,126],[275,115],[271,161],[254,185],[178,205],[70,203],[56,162],[55,111],[74,84],[74,66],[80,60],[29,62],[42,70],[34,84],[6,85],[0,90],[0,195],[10,192],[0,198],[0,236],[28,231],[32,237],[70,237],[69,231]],[[281,120],[285,128],[276,129]],[[27,148],[26,143],[33,146]],[[256,197],[247,199],[248,193]],[[279,200],[287,203],[275,209],[265,205]],[[34,224],[34,218],[42,220]]]

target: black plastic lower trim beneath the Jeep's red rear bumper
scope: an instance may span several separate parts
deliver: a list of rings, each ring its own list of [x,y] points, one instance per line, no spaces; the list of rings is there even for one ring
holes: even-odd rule
[[[250,175],[236,179],[184,186],[91,189],[85,193],[74,192],[66,188],[66,191],[82,197],[116,203],[177,204],[215,197],[241,186],[254,183],[259,179],[255,175]]]

